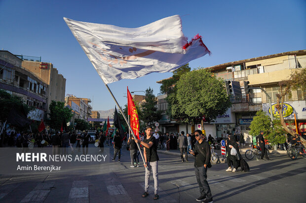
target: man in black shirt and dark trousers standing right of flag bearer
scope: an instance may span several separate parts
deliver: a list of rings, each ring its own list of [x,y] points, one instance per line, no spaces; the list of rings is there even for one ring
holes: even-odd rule
[[[190,153],[195,157],[194,172],[197,183],[200,189],[200,197],[196,201],[204,201],[203,203],[213,203],[213,197],[207,182],[207,169],[211,167],[210,164],[210,147],[206,141],[202,139],[202,131],[194,131],[194,136],[197,141],[194,146],[194,151]]]

